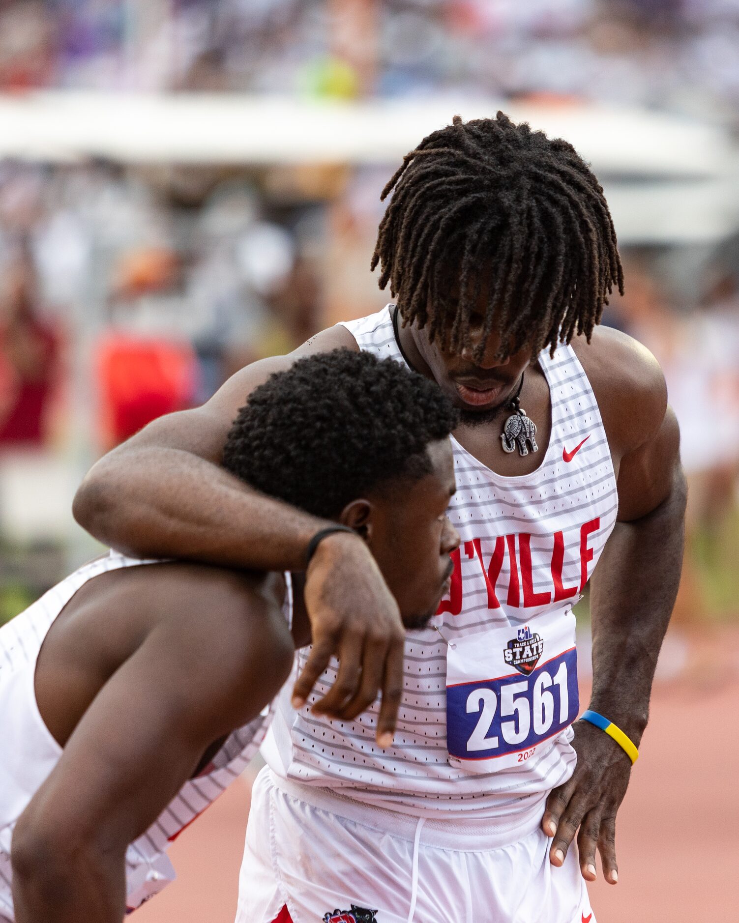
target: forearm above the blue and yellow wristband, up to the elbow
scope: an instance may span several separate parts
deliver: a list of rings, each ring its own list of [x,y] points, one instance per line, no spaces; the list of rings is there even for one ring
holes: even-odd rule
[[[684,509],[684,475],[678,468],[670,496],[658,509],[616,524],[591,586],[590,708],[621,727],[637,746],[680,581]]]

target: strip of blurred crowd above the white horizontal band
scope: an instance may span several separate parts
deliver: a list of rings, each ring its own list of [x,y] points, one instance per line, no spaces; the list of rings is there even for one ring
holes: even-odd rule
[[[483,87],[727,117],[739,101],[735,0],[3,0],[0,11],[9,90]]]

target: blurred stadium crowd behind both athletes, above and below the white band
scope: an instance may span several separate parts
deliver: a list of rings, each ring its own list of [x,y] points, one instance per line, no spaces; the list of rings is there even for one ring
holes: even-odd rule
[[[449,99],[448,120],[466,97],[494,101],[490,114],[506,102],[596,105],[707,129],[732,169],[737,49],[739,0],[0,0],[0,94],[14,102],[80,91],[111,106],[120,93]],[[382,306],[369,257],[402,153],[371,165],[193,164],[176,150],[166,163],[0,161],[0,621],[94,553],[69,503],[104,450],[206,400],[245,363]],[[618,166],[594,167],[618,198]],[[657,198],[655,177],[632,169],[614,210],[626,295],[606,322],[660,359],[683,429],[686,625],[739,609],[732,169],[719,197],[683,175]],[[679,231],[650,223],[665,202],[696,196],[695,222],[689,205]]]

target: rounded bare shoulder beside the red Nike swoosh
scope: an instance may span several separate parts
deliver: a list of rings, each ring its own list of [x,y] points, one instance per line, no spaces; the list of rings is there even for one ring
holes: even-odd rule
[[[595,393],[613,454],[619,459],[652,438],[667,413],[659,362],[633,337],[598,327],[591,341],[572,342]]]

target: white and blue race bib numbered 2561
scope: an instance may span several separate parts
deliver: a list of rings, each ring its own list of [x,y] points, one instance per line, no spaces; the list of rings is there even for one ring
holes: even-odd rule
[[[526,762],[579,711],[572,610],[455,639],[446,683],[452,766],[491,773]]]

